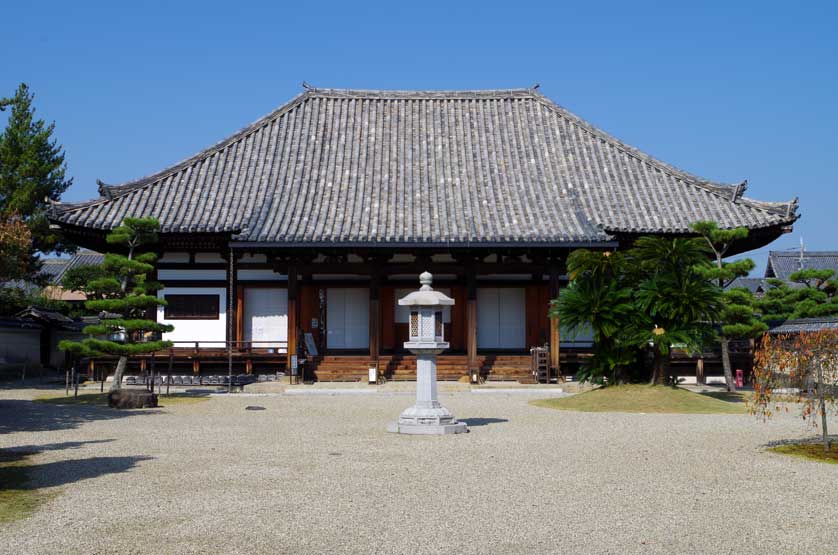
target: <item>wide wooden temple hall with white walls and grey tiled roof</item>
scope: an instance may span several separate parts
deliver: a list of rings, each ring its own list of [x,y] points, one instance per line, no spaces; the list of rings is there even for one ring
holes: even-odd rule
[[[430,271],[456,301],[440,378],[526,381],[530,347],[549,345],[555,372],[586,346],[548,317],[569,252],[688,234],[697,220],[748,227],[736,252],[761,247],[791,229],[797,202],[756,201],[746,186],[657,160],[535,89],[307,88],[191,158],[56,205],[51,219],[105,251],[126,216],[157,218],[168,300],[158,319],[207,361],[232,341],[248,371],[305,359],[308,379],[366,379],[370,366],[411,379],[397,299]]]

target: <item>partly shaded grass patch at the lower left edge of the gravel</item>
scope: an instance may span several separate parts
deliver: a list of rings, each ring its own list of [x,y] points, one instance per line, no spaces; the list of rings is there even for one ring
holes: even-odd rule
[[[0,524],[32,516],[53,494],[29,487],[32,453],[0,451]]]

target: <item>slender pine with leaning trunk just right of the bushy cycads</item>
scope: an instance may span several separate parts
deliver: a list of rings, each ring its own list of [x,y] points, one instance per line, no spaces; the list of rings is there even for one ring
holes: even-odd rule
[[[719,343],[722,349],[722,367],[727,389],[736,391],[736,382],[733,380],[733,369],[730,363],[730,340],[755,337],[767,329],[755,316],[755,299],[752,298],[750,291],[741,288],[727,290],[736,278],[745,277],[754,269],[754,261],[749,258],[734,262],[724,261],[725,255],[734,243],[748,236],[748,228],[719,229],[715,222],[695,222],[690,227],[704,237],[715,257],[715,264],[702,270],[702,274],[724,290]]]

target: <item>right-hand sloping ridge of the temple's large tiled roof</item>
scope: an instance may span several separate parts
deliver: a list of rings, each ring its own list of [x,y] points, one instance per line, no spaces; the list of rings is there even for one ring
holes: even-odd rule
[[[693,173],[690,173],[686,170],[682,170],[672,164],[668,164],[663,160],[660,160],[651,154],[647,154],[642,150],[631,146],[630,144],[621,141],[611,133],[604,131],[603,129],[597,127],[596,125],[592,124],[591,122],[587,121],[586,119],[577,116],[575,113],[571,112],[564,106],[558,104],[551,98],[541,94],[535,89],[530,89],[530,94],[538,99],[542,104],[546,105],[548,108],[552,109],[560,116],[567,119],[572,124],[578,126],[579,128],[591,133],[592,135],[599,137],[600,139],[608,142],[615,148],[625,152],[629,156],[632,156],[642,162],[651,164],[663,171],[669,172],[674,174],[676,177],[680,178],[682,181],[689,185],[693,185],[705,191],[708,191],[711,194],[715,194],[721,198],[727,199],[730,202],[744,201],[744,203],[752,208],[756,208],[758,210],[763,210],[765,212],[769,212],[772,214],[782,214],[785,212],[788,216],[795,215],[797,210],[797,198],[790,201],[779,201],[779,202],[768,202],[768,201],[758,201],[748,197],[743,196],[745,190],[748,187],[748,181],[745,180],[738,184],[726,184],[726,183],[718,183],[716,181],[711,181],[709,179],[705,179]],[[795,217],[795,220],[797,217]]]

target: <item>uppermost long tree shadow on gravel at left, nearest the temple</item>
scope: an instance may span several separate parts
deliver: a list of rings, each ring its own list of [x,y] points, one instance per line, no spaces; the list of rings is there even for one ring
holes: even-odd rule
[[[157,410],[118,410],[88,405],[53,405],[19,399],[0,400],[0,434],[71,430],[88,422],[158,414]]]

